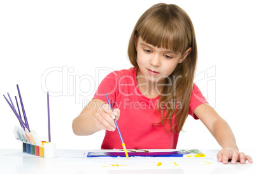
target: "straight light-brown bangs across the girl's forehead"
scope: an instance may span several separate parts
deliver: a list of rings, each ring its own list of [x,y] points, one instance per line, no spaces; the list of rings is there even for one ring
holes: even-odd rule
[[[176,53],[183,53],[189,47],[190,40],[186,33],[186,27],[178,17],[173,17],[169,11],[160,11],[146,16],[146,20],[139,23],[136,36],[141,36],[143,41],[158,48],[165,48]],[[189,39],[189,40],[188,40]]]

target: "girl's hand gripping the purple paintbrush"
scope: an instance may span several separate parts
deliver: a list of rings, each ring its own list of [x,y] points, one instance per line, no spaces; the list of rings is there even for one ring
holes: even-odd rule
[[[114,119],[119,119],[120,110],[114,109],[113,111],[110,108],[110,105],[104,104],[99,111],[95,113],[94,124],[97,128],[101,130],[115,131],[117,128],[115,126]]]

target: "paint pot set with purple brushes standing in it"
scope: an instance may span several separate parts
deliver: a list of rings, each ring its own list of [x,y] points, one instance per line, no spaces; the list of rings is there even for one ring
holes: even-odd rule
[[[18,97],[20,98],[20,105],[22,109],[22,114],[24,116],[24,121],[22,120],[22,115],[20,114],[20,107],[18,107],[18,100],[15,96],[17,109],[15,108],[15,105],[13,104],[13,101],[11,100],[10,94],[8,94],[8,97],[10,101],[4,96],[6,99],[6,102],[8,105],[10,105],[11,110],[13,110],[13,113],[17,117],[20,126],[15,126],[13,133],[15,135],[15,138],[17,140],[20,140],[22,142],[22,152],[31,154],[33,156],[39,156],[39,157],[48,157],[53,158],[55,157],[55,144],[51,142],[51,135],[50,135],[50,106],[49,106],[49,92],[47,92],[47,109],[48,109],[48,142],[42,141],[36,131],[31,130],[29,128],[29,123],[27,121],[27,116],[25,114],[24,104],[22,102],[22,97],[20,95],[20,89],[17,84],[17,90],[18,90]]]

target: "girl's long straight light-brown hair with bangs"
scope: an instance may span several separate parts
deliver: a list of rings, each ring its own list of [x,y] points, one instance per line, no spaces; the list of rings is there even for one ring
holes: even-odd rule
[[[166,78],[176,79],[175,85],[166,85],[159,98],[159,105],[164,102],[167,114],[163,116],[163,109],[157,107],[161,120],[156,125],[171,124],[171,130],[180,133],[188,115],[190,96],[194,84],[194,74],[197,64],[197,44],[194,26],[187,13],[174,4],[159,3],[145,11],[132,31],[128,46],[128,57],[131,64],[139,69],[137,51],[134,41],[141,36],[143,41],[158,48],[166,48],[178,53],[184,53],[191,47],[187,58],[178,64],[173,73]],[[180,78],[177,78],[179,77]],[[180,108],[171,103],[180,102]]]

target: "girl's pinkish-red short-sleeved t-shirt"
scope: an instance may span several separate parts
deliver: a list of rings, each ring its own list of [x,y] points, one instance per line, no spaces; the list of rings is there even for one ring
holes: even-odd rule
[[[153,126],[160,121],[155,109],[160,96],[147,98],[142,95],[138,88],[136,73],[135,68],[111,72],[99,84],[94,98],[108,104],[105,95],[107,93],[111,107],[120,109],[117,123],[127,149],[176,149],[179,135],[171,130],[167,132],[161,125]],[[188,114],[198,119],[194,110],[206,102],[201,91],[194,84]],[[175,101],[173,105],[176,105]],[[168,130],[169,123],[166,123],[165,127]],[[117,130],[106,131],[101,148],[122,149]]]

